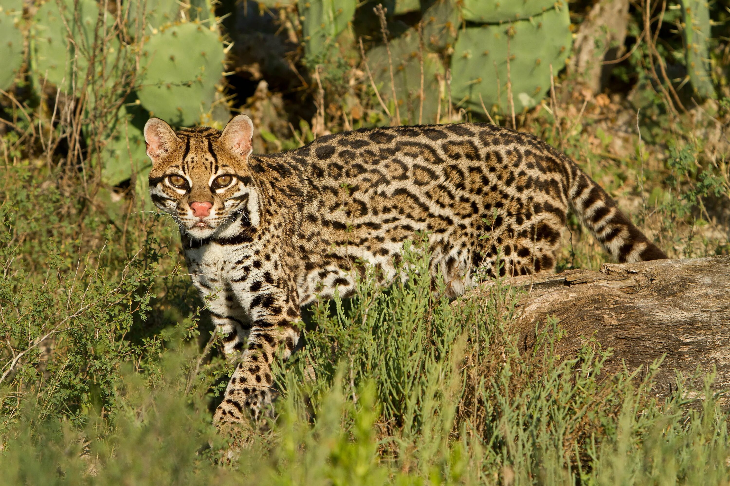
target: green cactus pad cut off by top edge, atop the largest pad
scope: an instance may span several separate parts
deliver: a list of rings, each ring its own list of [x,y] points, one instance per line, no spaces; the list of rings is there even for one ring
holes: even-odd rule
[[[464,20],[478,23],[501,23],[523,20],[555,7],[556,0],[463,0]]]

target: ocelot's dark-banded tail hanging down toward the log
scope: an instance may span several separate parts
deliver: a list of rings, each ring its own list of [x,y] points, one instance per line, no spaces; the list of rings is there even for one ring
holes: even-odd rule
[[[631,223],[616,202],[570,160],[568,203],[613,258],[621,263],[668,258]]]

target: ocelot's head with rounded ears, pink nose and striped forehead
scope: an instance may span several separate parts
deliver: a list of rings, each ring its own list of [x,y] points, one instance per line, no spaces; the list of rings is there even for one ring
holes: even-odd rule
[[[221,133],[213,128],[174,132],[150,118],[145,125],[152,160],[153,203],[191,238],[225,235],[238,224],[258,225],[258,196],[248,165],[253,123],[231,119]]]

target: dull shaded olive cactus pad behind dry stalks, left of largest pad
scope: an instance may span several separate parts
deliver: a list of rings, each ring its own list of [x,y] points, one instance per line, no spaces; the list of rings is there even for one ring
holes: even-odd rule
[[[409,29],[402,36],[390,43],[391,60],[393,61],[393,79],[396,84],[396,98],[402,123],[416,124],[437,122],[436,116],[441,102],[441,90],[438,77],[444,68],[439,56],[431,52],[423,52],[423,114],[420,116],[420,61],[418,60],[418,33]],[[367,63],[378,88],[381,98],[389,106],[391,117],[394,117],[393,90],[391,89],[391,69],[388,64],[388,52],[385,46],[371,49],[367,54]]]

